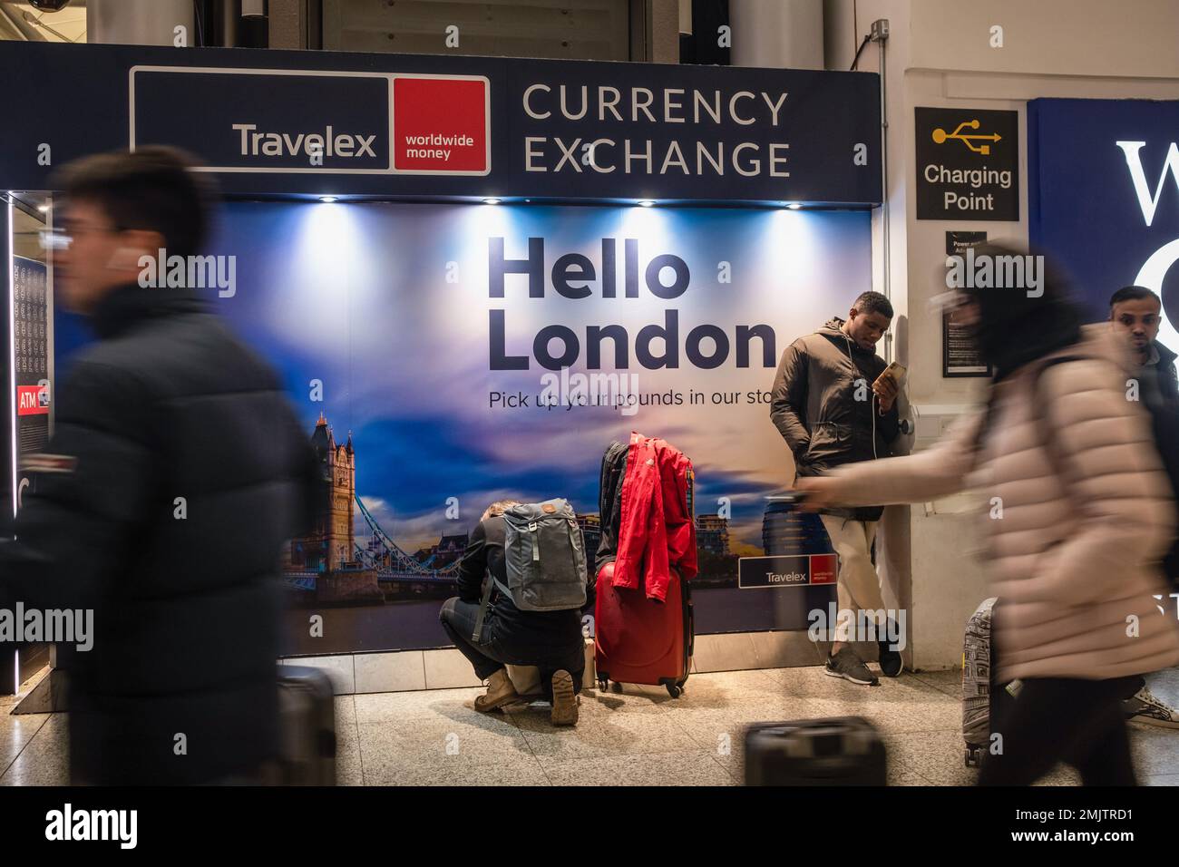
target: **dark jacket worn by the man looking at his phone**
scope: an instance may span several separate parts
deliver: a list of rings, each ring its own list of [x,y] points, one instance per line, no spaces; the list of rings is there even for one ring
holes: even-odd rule
[[[880,414],[871,399],[872,382],[887,367],[884,360],[856,346],[842,326],[843,320],[835,317],[815,334],[799,337],[778,363],[770,419],[790,446],[796,475],[888,458],[900,432],[896,403]],[[856,520],[878,520],[883,511],[882,506],[822,510]]]

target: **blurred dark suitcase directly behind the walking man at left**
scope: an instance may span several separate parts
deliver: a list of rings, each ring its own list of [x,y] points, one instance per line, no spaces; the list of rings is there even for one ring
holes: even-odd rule
[[[336,702],[320,669],[278,666],[279,767],[283,786],[336,784]]]

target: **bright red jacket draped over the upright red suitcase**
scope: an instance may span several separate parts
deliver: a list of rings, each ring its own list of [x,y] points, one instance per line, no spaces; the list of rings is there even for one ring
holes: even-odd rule
[[[692,461],[657,436],[631,433],[623,478],[621,524],[613,586],[667,598],[668,569],[694,578],[696,523],[687,503]]]

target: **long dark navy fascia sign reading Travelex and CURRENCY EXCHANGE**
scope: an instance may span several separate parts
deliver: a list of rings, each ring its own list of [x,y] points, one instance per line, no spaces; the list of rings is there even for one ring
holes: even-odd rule
[[[0,142],[8,188],[170,144],[231,195],[881,201],[874,73],[32,42],[0,73],[74,106],[28,106]]]

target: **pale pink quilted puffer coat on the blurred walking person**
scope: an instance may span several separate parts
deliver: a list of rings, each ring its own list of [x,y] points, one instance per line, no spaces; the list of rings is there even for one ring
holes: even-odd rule
[[[1081,360],[1041,374],[1056,356]],[[983,494],[1001,682],[1122,677],[1179,663],[1179,623],[1157,564],[1175,510],[1148,415],[1128,399],[1131,369],[1107,324],[1086,326],[1078,344],[996,386],[977,452],[981,410],[926,452],[832,473],[850,504],[922,503],[967,487]],[[997,506],[1001,518],[992,517]]]

